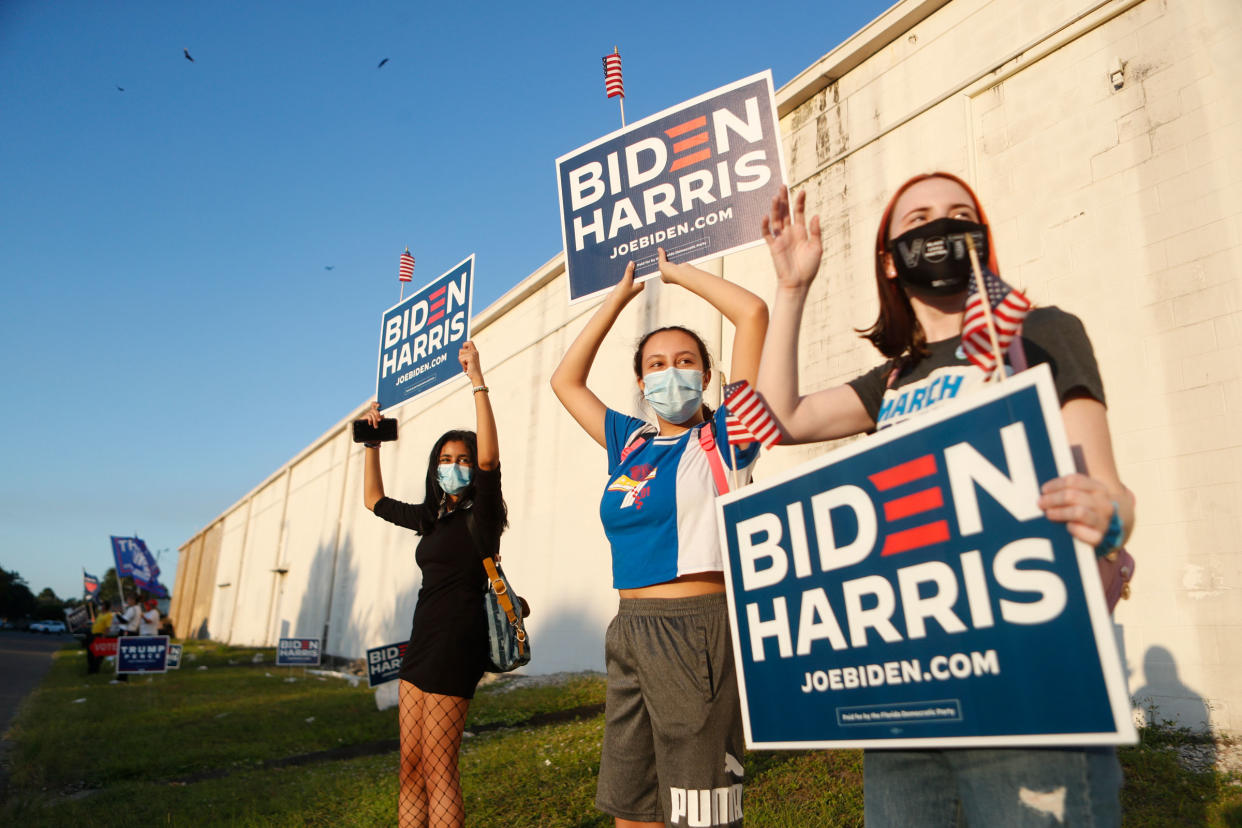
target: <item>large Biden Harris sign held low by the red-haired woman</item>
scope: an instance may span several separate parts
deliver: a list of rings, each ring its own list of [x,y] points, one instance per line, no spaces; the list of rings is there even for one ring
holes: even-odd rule
[[[718,502],[751,747],[1133,742],[1047,366]]]

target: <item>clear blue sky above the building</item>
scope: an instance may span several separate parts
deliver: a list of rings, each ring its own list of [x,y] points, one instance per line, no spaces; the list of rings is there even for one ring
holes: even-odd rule
[[[71,597],[137,533],[171,587],[374,394],[405,246],[476,310],[556,254],[614,45],[632,122],[888,5],[0,1],[0,566]]]

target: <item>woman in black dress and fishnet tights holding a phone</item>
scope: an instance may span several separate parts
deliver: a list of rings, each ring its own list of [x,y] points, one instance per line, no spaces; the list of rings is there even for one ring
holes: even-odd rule
[[[457,754],[487,664],[487,576],[471,533],[481,535],[478,547],[494,549],[508,525],[496,418],[474,344],[463,343],[457,359],[471,381],[476,431],[450,431],[435,442],[422,503],[384,495],[380,444],[366,443],[366,508],[421,535],[415,561],[422,586],[399,685],[401,826],[463,824]],[[366,418],[379,426],[378,403]]]

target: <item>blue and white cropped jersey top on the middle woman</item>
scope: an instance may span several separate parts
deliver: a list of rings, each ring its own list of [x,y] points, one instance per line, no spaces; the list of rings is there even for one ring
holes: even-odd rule
[[[715,412],[717,448],[730,478],[737,454],[738,485],[749,482],[759,443],[730,449],[725,411]],[[705,427],[705,426],[704,426]],[[612,586],[632,590],[692,572],[720,572],[724,561],[715,525],[715,483],[698,430],[648,437],[621,462],[630,439],[651,425],[607,412],[609,484],[600,520],[612,545]]]

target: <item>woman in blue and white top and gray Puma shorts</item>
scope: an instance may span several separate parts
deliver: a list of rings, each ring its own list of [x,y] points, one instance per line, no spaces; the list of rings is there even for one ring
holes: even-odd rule
[[[733,379],[754,380],[768,326],[763,299],[673,264],[663,250],[660,274],[733,323]],[[686,328],[648,333],[633,355],[655,426],[609,408],[586,387],[600,344],[642,287],[630,262],[551,377],[561,405],[607,452],[600,518],[621,602],[605,639],[596,806],[617,826],[734,824],[741,821],[741,709],[715,495],[728,489],[725,467],[749,478],[759,444],[730,452],[723,408],[703,405],[710,356]]]

